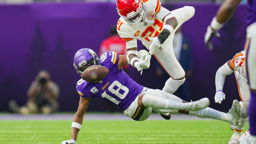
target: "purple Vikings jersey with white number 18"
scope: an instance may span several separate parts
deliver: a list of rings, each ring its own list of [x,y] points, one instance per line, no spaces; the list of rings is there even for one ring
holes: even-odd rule
[[[101,65],[109,69],[107,76],[100,82],[89,83],[78,80],[76,89],[81,97],[98,97],[125,110],[141,94],[143,86],[133,81],[124,71],[118,68],[119,54],[106,52],[100,57]]]

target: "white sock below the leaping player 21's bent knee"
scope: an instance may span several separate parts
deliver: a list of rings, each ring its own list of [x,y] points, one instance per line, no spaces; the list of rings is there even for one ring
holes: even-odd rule
[[[169,94],[173,94],[184,82],[185,78],[182,80],[173,80],[172,78],[169,78],[165,82],[163,91],[168,92]]]

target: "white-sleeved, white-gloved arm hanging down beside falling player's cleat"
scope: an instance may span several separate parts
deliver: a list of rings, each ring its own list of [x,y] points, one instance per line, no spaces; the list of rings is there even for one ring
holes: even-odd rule
[[[223,85],[225,82],[225,77],[230,75],[235,71],[232,68],[232,60],[226,62],[223,66],[221,66],[216,72],[215,76],[215,86],[216,86],[216,94],[215,94],[215,102],[221,104],[221,101],[225,99],[225,94],[223,93]]]

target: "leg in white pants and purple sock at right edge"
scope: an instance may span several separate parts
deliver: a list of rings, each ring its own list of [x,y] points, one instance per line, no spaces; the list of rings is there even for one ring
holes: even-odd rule
[[[248,33],[248,31],[247,31]],[[256,36],[250,38],[250,46],[247,50],[247,76],[251,88],[251,100],[249,103],[249,130],[251,132],[251,144],[256,144]]]

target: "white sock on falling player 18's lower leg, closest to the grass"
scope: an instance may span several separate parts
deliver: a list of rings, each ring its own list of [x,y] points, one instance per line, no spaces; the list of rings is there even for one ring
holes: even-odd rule
[[[229,121],[226,113],[217,111],[215,109],[211,109],[209,107],[202,109],[200,111],[190,111],[189,115],[197,116],[199,118],[211,118],[216,120],[222,120],[225,122]]]

